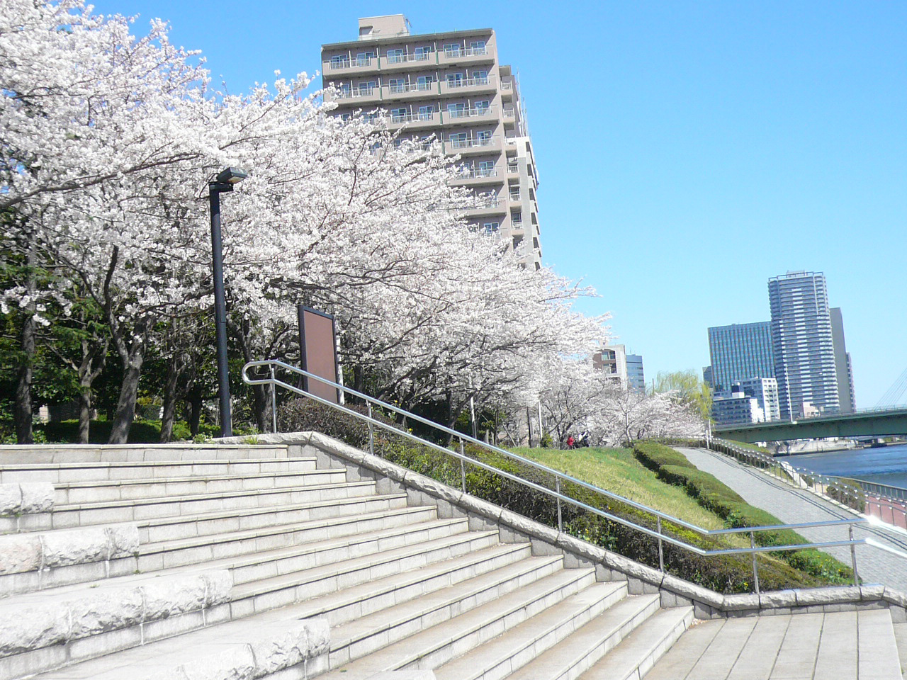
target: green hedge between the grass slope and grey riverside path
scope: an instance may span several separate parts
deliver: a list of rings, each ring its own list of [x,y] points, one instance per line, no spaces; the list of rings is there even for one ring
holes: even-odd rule
[[[770,512],[746,503],[736,491],[718,481],[714,475],[699,470],[686,456],[668,446],[655,442],[639,442],[634,444],[633,451],[643,465],[658,474],[659,479],[683,487],[701,506],[712,510],[725,520],[728,528],[784,524]],[[756,531],[754,538],[756,544],[760,546],[797,545],[809,542],[789,529]],[[853,582],[853,569],[821,550],[784,550],[773,554],[815,578],[832,583]]]

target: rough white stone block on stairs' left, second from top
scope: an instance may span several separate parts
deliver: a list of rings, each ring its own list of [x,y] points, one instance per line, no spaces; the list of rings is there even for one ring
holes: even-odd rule
[[[139,549],[139,527],[110,524],[0,536],[0,575],[125,558]]]

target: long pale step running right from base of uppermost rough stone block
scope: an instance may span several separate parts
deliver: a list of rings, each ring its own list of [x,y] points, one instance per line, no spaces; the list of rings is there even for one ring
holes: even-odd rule
[[[255,513],[274,507],[315,507],[318,503],[330,505],[341,500],[355,501],[374,494],[374,491],[374,481],[351,481],[292,489],[200,493],[159,499],[107,500],[100,503],[57,506],[51,512],[25,517],[34,517],[34,524],[39,524],[42,518],[49,517],[50,529],[69,529],[112,522],[181,520],[219,512],[235,514],[242,510]],[[40,529],[45,527],[35,527],[31,530]]]

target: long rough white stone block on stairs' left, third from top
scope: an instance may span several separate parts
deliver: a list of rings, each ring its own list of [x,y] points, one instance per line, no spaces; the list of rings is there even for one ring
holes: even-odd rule
[[[142,579],[135,585],[79,591],[74,597],[0,606],[0,656],[178,617],[229,600],[233,578],[227,569],[190,576]],[[35,599],[40,600],[40,597]]]

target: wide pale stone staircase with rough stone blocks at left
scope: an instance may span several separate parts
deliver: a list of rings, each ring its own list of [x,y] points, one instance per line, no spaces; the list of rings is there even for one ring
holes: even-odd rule
[[[0,680],[639,678],[694,620],[357,470],[287,444],[0,447]]]

